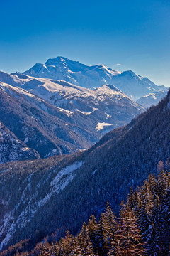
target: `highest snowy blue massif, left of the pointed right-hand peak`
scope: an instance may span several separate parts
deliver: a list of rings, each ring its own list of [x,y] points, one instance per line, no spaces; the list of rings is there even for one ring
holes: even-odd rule
[[[88,66],[63,57],[49,59],[45,64],[37,63],[25,72],[26,75],[36,78],[64,80],[87,88],[99,87],[108,83],[111,77],[118,73],[104,65]]]

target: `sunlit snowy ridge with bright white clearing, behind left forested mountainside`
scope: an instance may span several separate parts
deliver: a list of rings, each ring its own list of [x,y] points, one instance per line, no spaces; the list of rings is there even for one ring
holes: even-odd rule
[[[94,140],[90,142],[96,142],[103,132],[127,124],[144,111],[142,106],[113,85],[103,85],[91,90],[62,80],[33,78],[18,73],[8,75],[2,72],[0,80],[13,85],[13,90],[34,102],[36,107],[42,109],[43,106],[43,111],[49,108],[45,107],[47,102],[50,103],[48,105],[54,105],[56,112],[62,112],[69,122],[89,131],[91,137],[94,136]],[[35,100],[36,97],[41,99]]]

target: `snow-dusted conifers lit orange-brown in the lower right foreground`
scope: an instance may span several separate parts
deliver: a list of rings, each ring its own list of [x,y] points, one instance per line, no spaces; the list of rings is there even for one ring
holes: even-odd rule
[[[159,162],[158,171],[162,167]],[[170,173],[150,174],[142,187],[131,190],[118,220],[108,204],[98,222],[91,215],[79,235],[67,231],[60,242],[46,242],[40,255],[170,255]]]

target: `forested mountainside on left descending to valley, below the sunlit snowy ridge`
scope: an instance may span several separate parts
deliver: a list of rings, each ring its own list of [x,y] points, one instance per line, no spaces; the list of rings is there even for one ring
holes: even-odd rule
[[[97,122],[81,112],[54,107],[5,83],[0,83],[0,120],[42,158],[86,149],[101,136],[94,129]]]

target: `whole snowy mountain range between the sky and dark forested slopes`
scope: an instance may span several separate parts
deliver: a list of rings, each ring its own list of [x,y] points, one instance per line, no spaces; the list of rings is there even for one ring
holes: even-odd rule
[[[69,154],[128,124],[166,93],[131,70],[57,57],[23,74],[0,72],[0,121],[36,156]]]

